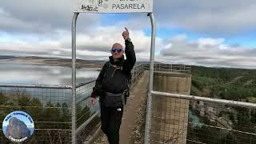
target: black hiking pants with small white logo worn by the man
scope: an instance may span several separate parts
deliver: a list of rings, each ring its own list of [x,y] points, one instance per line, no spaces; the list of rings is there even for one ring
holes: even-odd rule
[[[119,144],[119,129],[122,122],[123,107],[102,107],[102,131],[106,134],[110,144]]]

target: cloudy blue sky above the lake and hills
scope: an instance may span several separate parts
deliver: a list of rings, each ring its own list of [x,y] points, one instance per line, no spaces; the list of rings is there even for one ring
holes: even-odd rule
[[[1,0],[0,55],[71,58],[75,1]],[[255,0],[154,0],[155,59],[198,66],[256,69]],[[79,14],[77,57],[106,60],[130,30],[138,61],[150,58],[146,14]]]

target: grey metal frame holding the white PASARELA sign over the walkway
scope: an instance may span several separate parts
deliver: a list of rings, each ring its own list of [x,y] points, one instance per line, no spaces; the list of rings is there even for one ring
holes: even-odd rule
[[[155,23],[153,0],[78,0],[72,20],[72,144],[76,143],[76,22],[79,13],[148,13],[151,20],[150,84],[147,101],[145,144],[150,143],[151,91],[153,90]]]

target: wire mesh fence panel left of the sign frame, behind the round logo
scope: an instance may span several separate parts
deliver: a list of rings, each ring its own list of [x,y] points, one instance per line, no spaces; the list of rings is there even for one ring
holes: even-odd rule
[[[34,120],[34,134],[24,143],[70,143],[70,96],[70,88],[56,86],[0,87],[1,125],[7,114],[22,110]],[[10,143],[3,133],[0,138],[1,143]]]

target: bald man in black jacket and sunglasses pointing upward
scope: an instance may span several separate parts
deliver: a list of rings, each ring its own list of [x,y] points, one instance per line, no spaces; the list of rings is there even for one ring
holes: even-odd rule
[[[96,98],[99,97],[102,131],[106,134],[110,144],[119,143],[119,129],[129,89],[130,71],[136,62],[134,45],[127,29],[122,32],[122,37],[125,40],[125,50],[120,43],[114,43],[111,48],[110,61],[102,67],[90,96],[90,104],[94,104]]]

